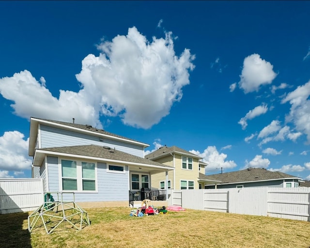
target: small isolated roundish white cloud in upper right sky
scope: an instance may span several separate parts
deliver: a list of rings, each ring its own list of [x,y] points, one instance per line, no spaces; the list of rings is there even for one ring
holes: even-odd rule
[[[252,54],[244,59],[238,85],[244,93],[250,93],[258,91],[261,85],[270,84],[276,77],[270,62],[261,59],[259,54]]]

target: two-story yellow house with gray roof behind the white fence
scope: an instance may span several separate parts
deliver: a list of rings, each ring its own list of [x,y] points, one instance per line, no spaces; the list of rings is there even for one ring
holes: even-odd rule
[[[165,172],[151,174],[151,186],[161,189],[199,189],[204,188],[204,180],[200,180],[200,173],[204,175],[206,163],[199,161],[202,157],[190,153],[176,146],[162,146],[155,152],[144,156],[152,161],[175,168],[168,171],[168,186]]]

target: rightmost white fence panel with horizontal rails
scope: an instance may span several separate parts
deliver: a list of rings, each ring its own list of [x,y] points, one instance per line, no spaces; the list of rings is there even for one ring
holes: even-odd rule
[[[268,216],[310,221],[310,188],[269,188]]]

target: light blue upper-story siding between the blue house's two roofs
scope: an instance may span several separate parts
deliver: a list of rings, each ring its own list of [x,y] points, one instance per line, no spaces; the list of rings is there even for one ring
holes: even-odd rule
[[[101,145],[109,146],[112,149],[129,153],[132,155],[144,157],[143,146],[128,144],[116,140],[99,141],[98,136],[80,134],[73,131],[63,130],[60,128],[50,127],[41,124],[41,148],[75,146],[75,145]]]

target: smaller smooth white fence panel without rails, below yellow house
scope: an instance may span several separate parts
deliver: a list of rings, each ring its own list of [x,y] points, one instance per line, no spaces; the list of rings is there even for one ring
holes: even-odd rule
[[[203,189],[183,189],[182,207],[203,210]]]

